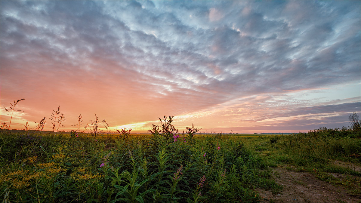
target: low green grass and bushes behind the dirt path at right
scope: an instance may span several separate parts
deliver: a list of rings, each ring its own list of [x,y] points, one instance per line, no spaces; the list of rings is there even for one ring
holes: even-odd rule
[[[297,172],[309,172],[320,180],[344,187],[350,194],[360,194],[360,172],[334,163],[337,160],[359,166],[360,138],[353,136],[352,131],[352,136],[335,136],[339,133],[331,131],[334,134],[330,134],[330,131],[321,129],[309,133],[241,140],[245,146],[253,148],[268,167],[285,165],[287,170],[296,168]],[[345,177],[335,178],[330,173],[344,174]]]

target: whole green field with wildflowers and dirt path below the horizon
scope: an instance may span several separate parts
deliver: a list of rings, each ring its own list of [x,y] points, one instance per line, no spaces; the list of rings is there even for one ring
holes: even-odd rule
[[[117,136],[1,130],[1,202],[360,202],[359,131],[199,135],[172,126]]]

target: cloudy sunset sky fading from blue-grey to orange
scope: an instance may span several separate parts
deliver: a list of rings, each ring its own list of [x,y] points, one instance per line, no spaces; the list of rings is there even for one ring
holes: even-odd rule
[[[0,120],[307,132],[361,107],[361,1],[0,1]],[[103,130],[104,125],[99,124]],[[84,128],[81,129],[81,131]]]

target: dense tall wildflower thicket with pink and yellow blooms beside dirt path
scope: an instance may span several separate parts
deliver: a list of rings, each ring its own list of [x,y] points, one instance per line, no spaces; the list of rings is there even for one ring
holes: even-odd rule
[[[97,137],[97,117],[91,126],[98,142],[79,137],[78,129],[22,145],[21,134],[1,131],[1,149],[13,143],[29,149],[1,153],[1,201],[257,202],[255,187],[277,186],[258,172],[264,161],[238,139],[197,138],[193,125],[179,134],[173,117],[160,121],[150,137],[122,129],[112,143]]]

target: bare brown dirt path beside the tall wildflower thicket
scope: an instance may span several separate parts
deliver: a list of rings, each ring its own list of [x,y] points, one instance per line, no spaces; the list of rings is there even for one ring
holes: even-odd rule
[[[260,202],[361,202],[360,194],[350,195],[342,186],[319,180],[311,173],[287,170],[286,166],[270,169],[275,181],[283,185],[283,190],[272,195],[271,191],[256,189],[261,196]]]

